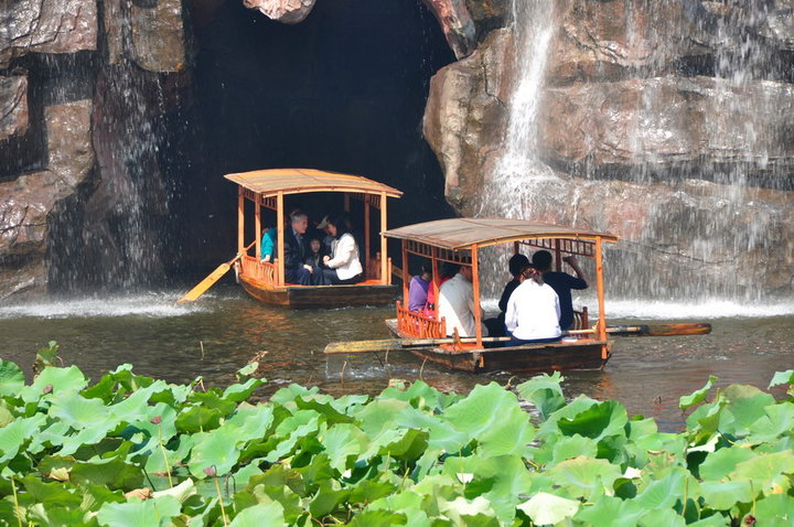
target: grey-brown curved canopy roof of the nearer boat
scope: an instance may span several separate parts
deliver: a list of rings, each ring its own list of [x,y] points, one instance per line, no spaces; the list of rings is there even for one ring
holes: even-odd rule
[[[383,233],[388,238],[414,240],[443,249],[469,249],[539,238],[618,241],[618,236],[576,227],[560,227],[526,219],[451,218],[399,227]]]

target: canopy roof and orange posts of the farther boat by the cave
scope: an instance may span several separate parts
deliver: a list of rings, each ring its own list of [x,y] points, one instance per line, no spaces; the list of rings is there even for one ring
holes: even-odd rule
[[[307,194],[321,192],[336,192],[344,194],[344,209],[350,212],[350,200],[364,203],[364,236],[366,258],[369,258],[369,214],[371,208],[380,213],[380,283],[390,283],[388,272],[388,251],[386,238],[383,233],[387,225],[387,198],[400,197],[403,192],[360,175],[344,174],[315,169],[267,169],[250,172],[225,174],[225,179],[236,183],[237,186],[237,250],[245,254],[245,201],[255,205],[255,238],[257,261],[261,254],[261,208],[276,212],[277,218],[277,260],[275,286],[285,287],[283,235],[285,235],[285,196],[291,194]]]

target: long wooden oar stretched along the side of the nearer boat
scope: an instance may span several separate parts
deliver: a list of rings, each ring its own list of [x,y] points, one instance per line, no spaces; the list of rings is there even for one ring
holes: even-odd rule
[[[608,326],[607,333],[612,336],[672,336],[672,335],[705,335],[711,332],[711,324],[641,324]],[[564,332],[564,335],[584,335],[596,333],[596,330],[575,330]],[[509,336],[484,336],[484,343],[508,342]],[[432,347],[441,344],[453,344],[454,338],[385,338],[378,341],[332,342],[325,346],[329,355],[340,353],[373,353],[408,349],[411,347]],[[463,344],[476,342],[474,337],[460,338]]]

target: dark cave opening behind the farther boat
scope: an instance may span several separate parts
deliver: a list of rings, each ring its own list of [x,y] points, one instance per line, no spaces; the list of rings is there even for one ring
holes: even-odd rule
[[[226,1],[196,41],[194,125],[167,123],[161,152],[179,268],[203,271],[234,255],[237,189],[227,173],[363,175],[405,193],[390,201],[390,226],[453,214],[421,120],[430,77],[454,55],[419,0],[324,0],[296,25]]]

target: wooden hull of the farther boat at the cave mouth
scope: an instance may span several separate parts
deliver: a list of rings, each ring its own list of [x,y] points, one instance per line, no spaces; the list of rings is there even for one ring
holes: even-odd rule
[[[358,283],[355,286],[285,286],[273,288],[259,280],[239,276],[240,286],[254,299],[290,309],[384,305],[394,302],[396,286]]]

